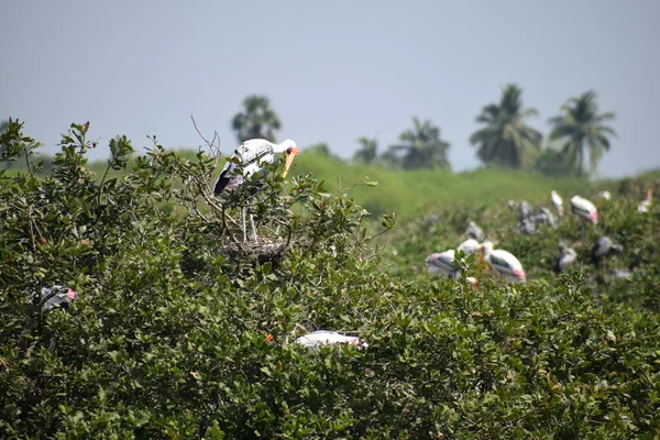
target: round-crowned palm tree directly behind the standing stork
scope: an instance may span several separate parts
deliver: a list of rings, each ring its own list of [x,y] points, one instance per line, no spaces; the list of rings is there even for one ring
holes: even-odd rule
[[[249,139],[266,139],[275,142],[275,131],[282,128],[277,113],[271,109],[268,98],[251,95],[243,100],[243,112],[237,113],[231,128],[237,133],[239,143]]]

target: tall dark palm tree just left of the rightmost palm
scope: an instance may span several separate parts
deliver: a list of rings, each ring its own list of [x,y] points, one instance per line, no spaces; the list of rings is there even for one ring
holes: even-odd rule
[[[470,143],[479,145],[476,154],[485,164],[521,167],[530,162],[531,150],[539,150],[541,133],[525,123],[538,111],[522,108],[521,94],[518,86],[507,84],[499,103],[485,106],[476,117],[486,127],[472,134]]]

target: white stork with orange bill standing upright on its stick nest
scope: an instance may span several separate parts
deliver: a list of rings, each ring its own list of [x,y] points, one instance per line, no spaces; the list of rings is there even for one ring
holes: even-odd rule
[[[272,164],[275,162],[275,155],[285,153],[286,158],[284,162],[283,177],[286,177],[294,158],[298,155],[299,150],[294,141],[287,139],[286,141],[274,144],[265,139],[251,139],[241,144],[237,150],[237,153],[227,162],[224,168],[218,176],[218,180],[213,186],[213,193],[216,195],[221,194],[226,188],[235,189],[246,184],[253,175],[258,175],[263,172],[262,164]],[[237,167],[242,168],[242,175],[237,173]],[[248,231],[245,229],[245,211],[243,207],[243,241],[248,240]],[[254,227],[254,218],[250,215],[250,222],[252,223],[252,233],[256,241],[256,228]]]

